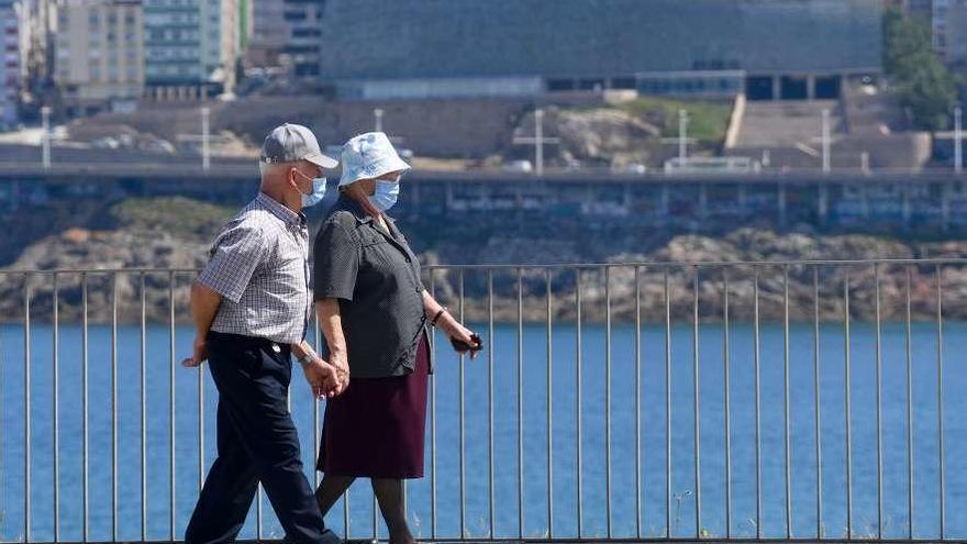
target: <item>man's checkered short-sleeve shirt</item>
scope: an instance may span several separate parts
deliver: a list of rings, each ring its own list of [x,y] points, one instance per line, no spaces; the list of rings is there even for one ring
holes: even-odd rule
[[[222,296],[212,331],[301,341],[312,307],[304,215],[259,192],[218,235],[198,281]]]

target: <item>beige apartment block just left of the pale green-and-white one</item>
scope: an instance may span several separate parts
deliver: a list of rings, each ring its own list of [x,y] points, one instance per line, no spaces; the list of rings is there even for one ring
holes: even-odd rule
[[[57,12],[57,84],[70,115],[89,114],[144,92],[141,0],[73,0]]]

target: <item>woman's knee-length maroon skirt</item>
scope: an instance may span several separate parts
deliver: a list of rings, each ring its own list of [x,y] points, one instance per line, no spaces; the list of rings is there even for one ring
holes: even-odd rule
[[[387,378],[352,378],[325,404],[316,469],[334,476],[422,478],[426,430],[426,336],[413,371]]]

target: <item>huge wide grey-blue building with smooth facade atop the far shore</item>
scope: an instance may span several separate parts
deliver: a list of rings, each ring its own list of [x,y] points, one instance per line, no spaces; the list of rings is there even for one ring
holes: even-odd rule
[[[320,78],[364,99],[610,88],[836,98],[844,78],[882,71],[882,0],[329,0]]]

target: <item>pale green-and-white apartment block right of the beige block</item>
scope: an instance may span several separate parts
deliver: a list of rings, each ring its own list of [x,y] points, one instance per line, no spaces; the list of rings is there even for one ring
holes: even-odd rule
[[[237,0],[144,0],[144,13],[148,96],[198,99],[231,90],[242,35]]]

